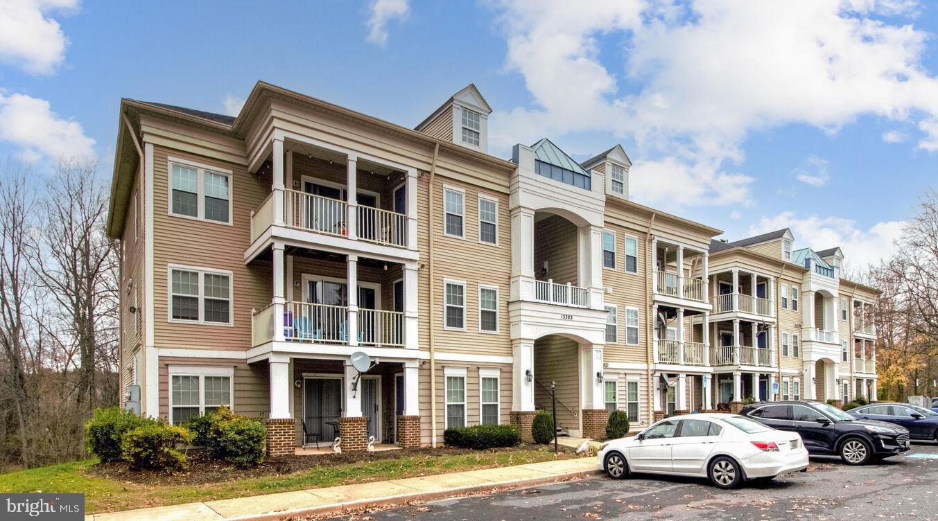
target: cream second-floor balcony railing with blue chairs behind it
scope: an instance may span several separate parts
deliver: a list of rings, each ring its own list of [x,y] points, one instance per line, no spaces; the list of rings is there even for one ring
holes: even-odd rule
[[[274,340],[274,309],[266,305],[255,310],[251,318],[251,345],[259,346]],[[349,344],[349,308],[346,305],[287,302],[283,305],[283,339],[286,342],[310,344]],[[403,313],[381,309],[357,311],[359,346],[401,348]]]

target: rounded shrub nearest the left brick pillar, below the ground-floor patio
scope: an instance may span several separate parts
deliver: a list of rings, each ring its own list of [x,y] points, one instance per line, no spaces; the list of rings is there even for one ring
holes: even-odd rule
[[[208,453],[215,459],[247,469],[264,461],[267,430],[259,420],[219,407],[210,418]]]

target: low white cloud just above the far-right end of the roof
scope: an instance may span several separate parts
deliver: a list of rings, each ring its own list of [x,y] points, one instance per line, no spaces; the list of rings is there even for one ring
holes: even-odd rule
[[[863,267],[892,255],[896,249],[894,241],[899,239],[904,225],[903,221],[885,221],[863,230],[853,219],[837,216],[799,217],[794,212],[782,212],[776,216],[763,216],[757,224],[749,227],[749,234],[791,228],[795,248],[807,246],[825,249],[840,246],[846,263]]]

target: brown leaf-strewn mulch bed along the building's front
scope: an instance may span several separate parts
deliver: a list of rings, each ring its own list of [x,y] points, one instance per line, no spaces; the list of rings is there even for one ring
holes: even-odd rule
[[[279,476],[291,474],[306,469],[328,469],[350,463],[378,461],[393,459],[402,456],[442,456],[458,454],[484,454],[487,452],[511,452],[519,449],[545,450],[543,445],[520,445],[505,449],[491,449],[490,451],[474,451],[471,449],[458,449],[443,447],[438,449],[401,449],[396,451],[380,451],[375,453],[353,454],[307,454],[283,455],[265,458],[264,463],[253,469],[237,469],[223,461],[208,457],[208,453],[201,449],[189,450],[186,457],[189,459],[189,470],[178,474],[167,474],[151,470],[131,470],[127,463],[98,463],[87,470],[92,477],[105,478],[154,486],[166,485],[193,485],[213,484],[233,479],[258,478],[264,476]],[[559,459],[566,459],[574,455],[565,447],[560,448]]]

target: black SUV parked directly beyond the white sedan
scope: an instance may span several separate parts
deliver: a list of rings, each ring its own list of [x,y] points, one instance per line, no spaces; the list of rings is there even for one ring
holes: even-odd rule
[[[909,431],[904,427],[857,420],[822,402],[759,402],[744,407],[740,414],[798,433],[809,454],[839,454],[850,465],[909,450]]]

